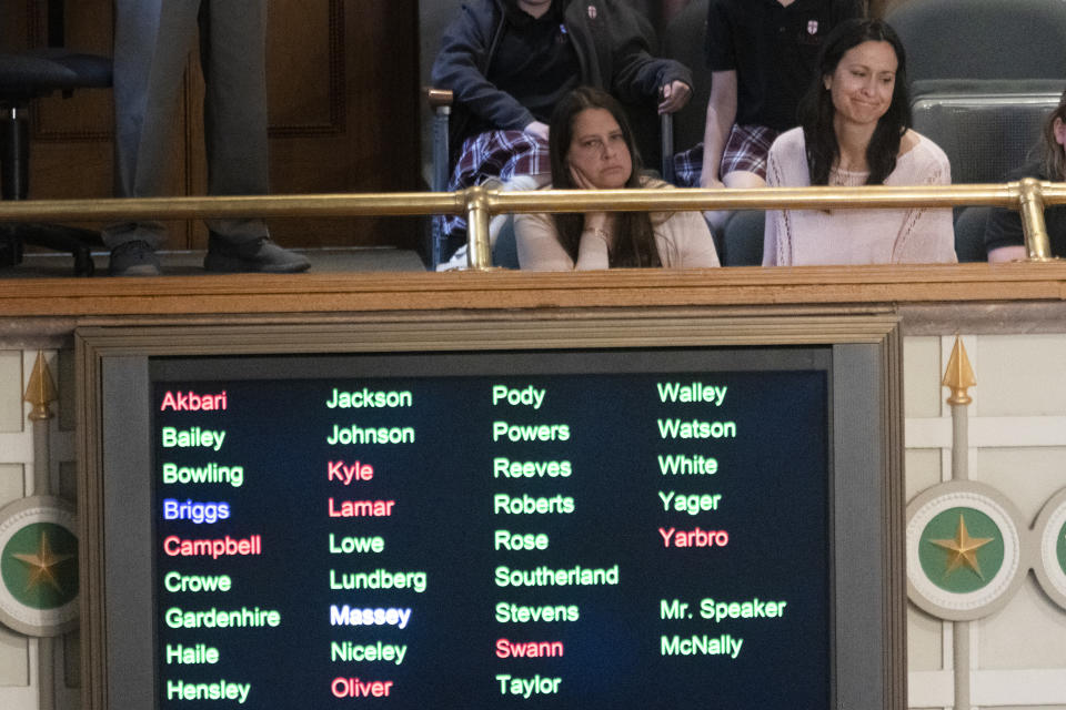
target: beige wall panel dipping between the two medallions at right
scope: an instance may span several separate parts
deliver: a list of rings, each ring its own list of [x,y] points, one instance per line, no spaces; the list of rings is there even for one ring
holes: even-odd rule
[[[1010,498],[1029,526],[1044,504],[1066,488],[1066,447],[978,449],[975,478]]]

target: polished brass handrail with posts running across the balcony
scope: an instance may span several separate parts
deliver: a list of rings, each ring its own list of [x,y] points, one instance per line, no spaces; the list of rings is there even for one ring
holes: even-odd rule
[[[489,221],[509,212],[842,210],[993,205],[1019,210],[1028,261],[1050,260],[1044,206],[1066,204],[1066,183],[1026,178],[1003,184],[755,190],[539,190],[470,187],[459,192],[335,193],[125,200],[0,202],[0,222],[344,217],[465,214],[470,264],[491,266]]]

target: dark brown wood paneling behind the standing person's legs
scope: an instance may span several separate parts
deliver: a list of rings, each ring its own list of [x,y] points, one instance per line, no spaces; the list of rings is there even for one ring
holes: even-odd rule
[[[2,47],[46,43],[44,3],[0,0]],[[111,0],[67,2],[68,47],[110,54]],[[271,189],[274,193],[413,190],[419,173],[415,0],[271,0],[268,36]],[[174,116],[169,193],[203,194],[203,84],[190,52]],[[112,194],[110,91],[37,102],[32,199]],[[282,220],[292,246],[396,245],[419,239],[413,220]],[[169,248],[202,248],[199,224],[171,224]]]

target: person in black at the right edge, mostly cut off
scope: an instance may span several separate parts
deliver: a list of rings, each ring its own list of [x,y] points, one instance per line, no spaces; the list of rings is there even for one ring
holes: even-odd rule
[[[1039,156],[1007,175],[1007,180],[1037,178],[1054,182],[1066,181],[1066,91],[1058,105],[1044,120],[1040,131]],[[1044,222],[1052,244],[1052,254],[1066,256],[1066,205],[1044,210]],[[989,262],[1025,258],[1025,235],[1022,216],[1016,210],[995,207],[985,225],[985,248]]]

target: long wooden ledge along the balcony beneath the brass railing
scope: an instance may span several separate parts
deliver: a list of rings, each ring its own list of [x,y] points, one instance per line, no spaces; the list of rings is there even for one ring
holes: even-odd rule
[[[211,316],[309,313],[346,320],[453,308],[470,317],[536,308],[894,308],[899,304],[1066,301],[1066,262],[919,266],[745,266],[690,271],[234,274],[0,280],[0,316]],[[244,316],[241,316],[244,317]]]

